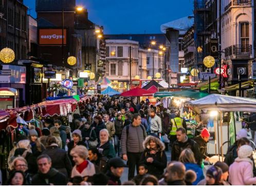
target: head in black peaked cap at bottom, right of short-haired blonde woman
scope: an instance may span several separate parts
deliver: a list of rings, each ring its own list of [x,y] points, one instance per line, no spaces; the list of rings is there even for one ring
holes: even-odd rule
[[[127,167],[127,165],[120,158],[112,158],[108,161],[108,167],[114,176],[120,178],[123,174],[123,167]]]

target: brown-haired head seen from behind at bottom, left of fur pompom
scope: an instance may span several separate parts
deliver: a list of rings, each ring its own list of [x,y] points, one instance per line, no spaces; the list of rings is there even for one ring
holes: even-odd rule
[[[176,180],[184,180],[186,175],[186,167],[181,162],[171,162],[168,165],[165,178],[167,182],[172,182]]]

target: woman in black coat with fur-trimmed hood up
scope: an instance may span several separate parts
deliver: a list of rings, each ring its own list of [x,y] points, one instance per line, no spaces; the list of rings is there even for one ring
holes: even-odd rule
[[[141,155],[140,163],[147,165],[148,174],[154,175],[160,179],[167,166],[164,144],[159,138],[148,136],[143,142],[143,147],[144,152]]]

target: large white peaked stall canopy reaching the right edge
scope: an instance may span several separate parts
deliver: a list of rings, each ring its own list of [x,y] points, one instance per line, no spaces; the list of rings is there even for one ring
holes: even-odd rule
[[[218,111],[256,112],[256,99],[211,94],[187,103],[190,107]]]

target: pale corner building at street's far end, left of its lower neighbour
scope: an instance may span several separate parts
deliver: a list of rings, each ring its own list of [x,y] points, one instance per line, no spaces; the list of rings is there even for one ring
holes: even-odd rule
[[[124,83],[123,86],[126,87],[130,84],[130,79],[135,79],[135,76],[139,75],[139,43],[131,40],[106,40],[105,42],[105,76],[109,80]]]

